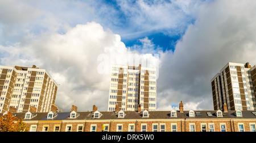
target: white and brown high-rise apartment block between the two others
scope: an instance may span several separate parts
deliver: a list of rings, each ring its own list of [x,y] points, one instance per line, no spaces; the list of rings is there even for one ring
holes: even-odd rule
[[[108,111],[115,111],[115,107],[122,111],[155,111],[156,69],[113,65]]]

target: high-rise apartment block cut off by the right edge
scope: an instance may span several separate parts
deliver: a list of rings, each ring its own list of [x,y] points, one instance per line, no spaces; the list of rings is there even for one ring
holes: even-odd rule
[[[256,110],[256,68],[255,65],[229,62],[212,79],[214,110]]]

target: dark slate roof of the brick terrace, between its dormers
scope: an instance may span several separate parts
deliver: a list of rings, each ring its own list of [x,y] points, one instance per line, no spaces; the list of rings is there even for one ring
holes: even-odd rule
[[[22,117],[24,121],[43,121],[43,120],[126,120],[126,119],[256,119],[256,116],[253,114],[253,112],[256,111],[241,111],[242,117],[236,116],[236,111],[228,111],[228,112],[222,112],[222,117],[217,117],[216,112],[217,111],[194,111],[195,117],[189,117],[188,113],[189,111],[184,111],[183,113],[180,113],[179,111],[176,111],[177,117],[170,117],[171,111],[148,111],[149,117],[142,117],[143,112],[135,112],[135,111],[125,111],[125,117],[118,117],[118,113],[115,113],[113,111],[104,111],[100,112],[101,117],[100,118],[94,118],[94,113],[92,112],[77,112],[79,116],[75,119],[69,118],[70,112],[57,112],[57,116],[53,119],[47,119],[48,112],[37,112],[35,113],[36,116],[32,119],[24,119],[26,113],[13,113],[14,116],[20,118]],[[197,116],[197,113],[200,112],[201,116]],[[208,116],[207,112],[210,112],[212,116]],[[0,113],[0,116],[2,116],[3,113]]]

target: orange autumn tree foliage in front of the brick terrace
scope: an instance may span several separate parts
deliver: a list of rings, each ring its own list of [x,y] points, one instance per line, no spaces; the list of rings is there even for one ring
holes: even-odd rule
[[[23,119],[18,119],[12,113],[7,112],[5,115],[0,116],[0,132],[27,132],[28,127]]]

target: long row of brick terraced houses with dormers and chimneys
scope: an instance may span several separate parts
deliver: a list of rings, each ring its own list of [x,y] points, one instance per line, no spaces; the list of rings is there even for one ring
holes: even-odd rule
[[[256,112],[228,111],[92,111],[13,113],[31,132],[255,132]],[[0,114],[2,116],[3,113]]]

